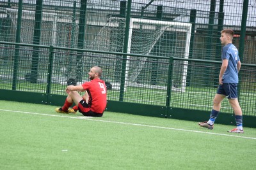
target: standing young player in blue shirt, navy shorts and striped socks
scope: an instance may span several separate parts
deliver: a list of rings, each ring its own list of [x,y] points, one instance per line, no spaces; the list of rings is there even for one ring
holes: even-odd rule
[[[237,48],[232,44],[233,36],[234,31],[232,31],[232,29],[224,29],[221,31],[220,41],[221,45],[223,45],[223,49],[221,55],[222,65],[219,75],[220,85],[217,94],[213,99],[210,119],[208,122],[200,122],[198,125],[213,129],[214,121],[220,112],[221,101],[227,96],[228,101],[234,110],[237,125],[235,129],[228,132],[243,133],[243,115],[237,99],[238,73],[241,67],[241,62]]]

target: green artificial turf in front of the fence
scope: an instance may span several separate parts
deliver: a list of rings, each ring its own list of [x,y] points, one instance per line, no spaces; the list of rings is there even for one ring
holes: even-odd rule
[[[0,169],[255,169],[256,131],[0,101]]]

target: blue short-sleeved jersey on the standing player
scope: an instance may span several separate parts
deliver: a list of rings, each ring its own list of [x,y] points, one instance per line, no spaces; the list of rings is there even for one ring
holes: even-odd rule
[[[223,46],[221,59],[228,60],[228,67],[222,76],[223,83],[238,83],[237,62],[240,59],[236,46],[231,43]]]

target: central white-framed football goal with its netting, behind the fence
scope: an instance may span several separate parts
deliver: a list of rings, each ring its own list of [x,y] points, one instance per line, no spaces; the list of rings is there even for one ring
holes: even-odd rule
[[[129,28],[127,53],[188,58],[191,24],[131,18]],[[124,36],[125,18],[109,18],[106,25],[100,29],[93,42],[88,46],[88,49],[122,52]],[[90,56],[89,53],[88,56]],[[104,56],[106,55],[102,55],[102,57]],[[97,59],[93,59],[92,62],[100,66],[104,66],[104,63],[108,63],[108,66],[106,66],[108,70],[120,70],[122,64],[120,59],[122,59],[122,56],[118,58],[116,55],[109,55],[110,58],[115,58],[111,62],[109,62],[109,59],[102,57],[97,57]],[[154,67],[152,67],[152,62],[150,61],[152,61],[152,59],[147,57],[127,56],[125,66],[125,89],[129,86],[166,89],[167,84],[163,83],[163,80],[167,81],[167,75],[163,78],[161,73],[168,73],[168,60],[157,60],[159,64]],[[185,90],[187,64],[187,61],[175,60],[172,77],[172,88],[174,90]],[[154,74],[156,81],[152,83],[150,79],[152,79],[154,72],[156,72],[156,74]],[[149,74],[151,78],[149,78]],[[108,76],[108,80],[113,84],[113,89],[119,89],[119,74],[115,73],[114,75],[115,76],[112,78]],[[148,78],[145,78],[147,76]]]

